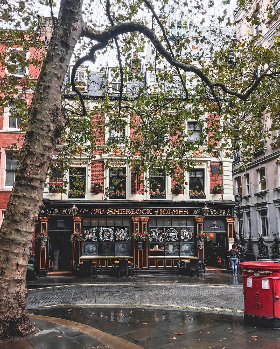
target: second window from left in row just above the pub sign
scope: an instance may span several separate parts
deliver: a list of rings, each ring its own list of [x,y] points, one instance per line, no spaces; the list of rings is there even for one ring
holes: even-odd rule
[[[109,169],[109,198],[126,198],[126,169]]]

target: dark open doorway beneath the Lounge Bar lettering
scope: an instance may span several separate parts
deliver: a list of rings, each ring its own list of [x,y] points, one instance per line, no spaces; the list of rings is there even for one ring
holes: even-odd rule
[[[51,232],[49,244],[49,272],[71,271],[72,268],[72,246],[69,242],[71,233]]]

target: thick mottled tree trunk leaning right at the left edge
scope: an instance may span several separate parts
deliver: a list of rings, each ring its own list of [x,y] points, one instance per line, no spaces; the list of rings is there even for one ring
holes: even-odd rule
[[[26,308],[26,269],[52,153],[66,114],[60,90],[82,26],[82,0],[62,0],[36,91],[15,183],[0,230],[0,336],[33,327]]]

